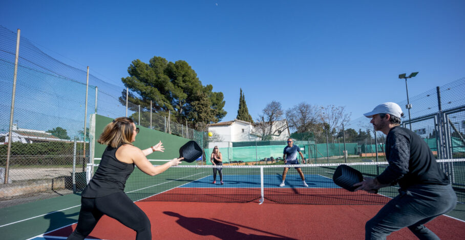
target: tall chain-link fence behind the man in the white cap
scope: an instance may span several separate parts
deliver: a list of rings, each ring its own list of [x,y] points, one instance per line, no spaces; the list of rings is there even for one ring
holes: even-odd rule
[[[460,78],[452,83],[410,97],[409,102],[412,106],[410,120],[407,100],[398,103],[405,114],[401,126],[411,129],[423,138],[438,159],[465,157],[465,95],[463,92],[465,92],[465,78]],[[373,107],[376,104],[373,103]],[[346,130],[348,128],[355,131],[367,129],[366,131],[373,132],[369,119],[364,116],[352,121],[346,126]],[[385,143],[386,135],[381,132],[376,133],[378,147],[368,146],[367,149],[377,149],[375,153],[382,155],[384,148],[380,145]],[[367,139],[368,142],[374,141],[374,136],[368,136]],[[365,153],[364,150],[360,152]],[[369,159],[373,159],[373,156],[370,157]]]

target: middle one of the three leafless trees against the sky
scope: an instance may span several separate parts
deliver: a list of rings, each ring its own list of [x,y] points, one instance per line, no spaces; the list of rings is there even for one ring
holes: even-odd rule
[[[289,128],[298,133],[310,132],[321,121],[321,110],[305,102],[299,103],[286,111]]]

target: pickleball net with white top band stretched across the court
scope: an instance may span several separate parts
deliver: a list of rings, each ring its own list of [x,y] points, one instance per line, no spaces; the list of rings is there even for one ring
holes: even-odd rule
[[[438,160],[440,168],[451,179],[458,202],[465,202],[465,159]],[[124,191],[133,201],[187,201],[187,202],[272,202],[281,204],[315,205],[384,205],[398,194],[398,186],[386,187],[377,194],[365,191],[350,192],[335,185],[332,176],[341,164],[292,165],[289,168],[285,186],[282,174],[289,165],[264,166],[220,166],[213,183],[213,172],[219,166],[180,165],[165,172],[150,176],[137,167],[128,178]],[[387,167],[387,162],[346,164],[362,172],[364,176],[375,177]],[[93,173],[98,165],[89,165]],[[294,167],[300,167],[308,187]],[[218,170],[218,169],[217,169]],[[91,174],[88,175],[90,181]]]

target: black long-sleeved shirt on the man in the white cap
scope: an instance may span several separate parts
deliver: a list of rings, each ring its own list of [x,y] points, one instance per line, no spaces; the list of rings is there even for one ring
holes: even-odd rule
[[[449,184],[428,144],[409,129],[397,126],[389,131],[386,158],[389,166],[376,177],[381,184],[398,183],[404,189],[417,184]]]

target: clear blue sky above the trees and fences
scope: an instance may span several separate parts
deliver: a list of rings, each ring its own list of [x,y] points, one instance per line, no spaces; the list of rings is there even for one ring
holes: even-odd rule
[[[119,85],[134,59],[184,60],[256,118],[271,101],[352,119],[465,76],[465,1],[4,1],[0,25]]]

